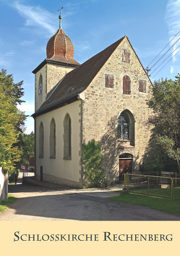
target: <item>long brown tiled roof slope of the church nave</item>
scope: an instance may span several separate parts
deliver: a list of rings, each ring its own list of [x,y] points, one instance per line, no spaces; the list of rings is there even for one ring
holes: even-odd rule
[[[69,101],[84,91],[124,38],[125,36],[103,51],[100,51],[100,53],[96,54],[94,57],[88,59],[79,67],[67,73],[67,75],[54,86],[51,90],[51,95],[48,94],[46,102],[33,114],[33,117],[59,107],[63,102]]]

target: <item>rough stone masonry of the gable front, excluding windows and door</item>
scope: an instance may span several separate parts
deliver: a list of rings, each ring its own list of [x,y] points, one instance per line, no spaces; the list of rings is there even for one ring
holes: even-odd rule
[[[122,62],[122,51],[130,51],[130,63]],[[105,87],[105,75],[113,75],[113,88]],[[123,77],[131,79],[131,94],[123,94]],[[146,93],[139,91],[139,80],[147,83]],[[133,154],[132,172],[138,170],[150,139],[145,121],[150,116],[146,100],[150,98],[150,80],[127,38],[113,52],[90,86],[83,92],[82,142],[95,139],[103,149],[103,168],[110,182],[119,179],[119,155]],[[117,119],[122,111],[134,116],[134,146],[121,146],[117,138]]]

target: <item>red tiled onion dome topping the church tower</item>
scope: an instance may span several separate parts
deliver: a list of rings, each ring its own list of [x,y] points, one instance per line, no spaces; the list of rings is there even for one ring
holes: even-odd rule
[[[46,47],[47,59],[59,62],[79,64],[74,60],[74,46],[71,39],[59,28]]]

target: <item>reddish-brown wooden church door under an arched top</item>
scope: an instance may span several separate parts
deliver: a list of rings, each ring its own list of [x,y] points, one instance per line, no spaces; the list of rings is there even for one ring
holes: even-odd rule
[[[124,181],[124,173],[132,173],[132,154],[121,154],[119,156],[119,181]]]

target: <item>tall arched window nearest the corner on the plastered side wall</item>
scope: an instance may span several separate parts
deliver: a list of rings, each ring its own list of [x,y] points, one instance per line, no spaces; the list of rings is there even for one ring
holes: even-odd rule
[[[67,114],[64,118],[64,159],[71,159],[71,118]]]

